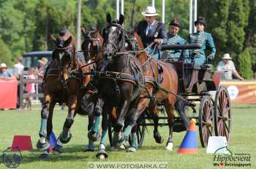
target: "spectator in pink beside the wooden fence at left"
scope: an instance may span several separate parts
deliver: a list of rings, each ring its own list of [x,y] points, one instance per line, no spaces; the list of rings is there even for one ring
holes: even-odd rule
[[[36,77],[34,76],[34,68],[30,68],[29,69],[29,76],[28,76],[28,79],[36,79]],[[34,87],[34,83],[28,83],[26,84],[26,93],[29,93],[29,94],[32,94],[32,93],[36,93],[36,90],[35,90],[35,87]],[[31,101],[32,101],[33,97],[31,95],[29,95],[27,98],[26,98],[26,104],[27,104],[27,108],[29,110],[31,110]],[[24,107],[26,107],[26,104]]]

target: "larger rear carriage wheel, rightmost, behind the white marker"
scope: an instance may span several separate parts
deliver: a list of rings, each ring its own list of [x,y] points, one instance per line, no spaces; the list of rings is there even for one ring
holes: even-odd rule
[[[214,130],[215,135],[225,136],[227,142],[231,135],[231,103],[225,87],[219,87],[214,101]]]

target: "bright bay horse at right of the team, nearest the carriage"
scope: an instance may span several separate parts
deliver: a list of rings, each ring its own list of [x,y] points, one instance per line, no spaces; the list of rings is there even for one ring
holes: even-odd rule
[[[145,110],[145,106],[148,106],[148,111],[151,112],[151,116],[154,120],[154,139],[157,143],[162,143],[163,139],[158,131],[158,106],[159,103],[164,103],[165,111],[167,113],[168,125],[169,125],[169,138],[167,139],[167,150],[171,150],[173,147],[173,125],[174,125],[174,108],[176,104],[176,94],[178,92],[178,76],[176,74],[176,68],[171,63],[165,63],[161,60],[154,60],[149,57],[145,52],[143,43],[141,42],[140,36],[136,33],[136,31],[132,31],[130,34],[134,37],[135,42],[138,44],[138,52],[137,57],[140,60],[140,64],[143,68],[143,74],[145,76],[145,86],[146,89],[150,92],[148,94],[148,98],[151,98],[150,103],[144,102],[143,109],[138,109],[136,111],[138,115],[136,117],[140,117],[140,114]],[[161,70],[161,71],[159,71]],[[160,73],[159,73],[160,72]],[[153,90],[152,90],[153,89]],[[143,97],[145,97],[146,93],[141,93]],[[140,100],[146,101],[145,98]],[[147,97],[146,97],[147,98]],[[140,103],[138,103],[140,105]],[[177,109],[179,113],[181,109]],[[136,127],[136,126],[135,126]],[[137,142],[135,138],[136,129],[132,130],[132,143],[137,145],[134,142]],[[132,145],[133,146],[133,145]],[[136,147],[130,147],[130,152],[135,152]]]

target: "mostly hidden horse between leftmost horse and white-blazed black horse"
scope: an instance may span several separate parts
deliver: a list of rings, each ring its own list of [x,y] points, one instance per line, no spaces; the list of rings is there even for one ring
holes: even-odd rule
[[[103,38],[99,34],[99,29],[95,28],[94,25],[90,25],[89,30],[86,28],[81,28],[83,33],[83,43],[81,45],[83,55],[85,60],[91,60],[91,63],[94,64],[94,71],[100,69],[102,66],[102,47],[103,47]],[[99,137],[99,122],[101,117],[96,117],[93,114],[94,104],[97,100],[97,89],[94,87],[97,85],[95,79],[92,79],[91,85],[89,85],[89,93],[83,97],[82,100],[82,107],[83,109],[89,110],[89,124],[88,124],[88,138],[89,138],[89,145],[86,148],[86,152],[93,152],[94,151],[94,141],[97,140]]]

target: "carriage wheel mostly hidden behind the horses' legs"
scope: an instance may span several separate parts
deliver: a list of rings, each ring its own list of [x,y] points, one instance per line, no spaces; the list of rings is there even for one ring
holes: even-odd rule
[[[136,125],[137,125],[136,135],[138,140],[138,147],[140,147],[143,144],[145,130],[146,130],[146,119],[144,118],[143,114],[141,114],[140,118],[137,120]],[[132,143],[131,135],[129,135],[129,144],[131,145],[131,143]]]

